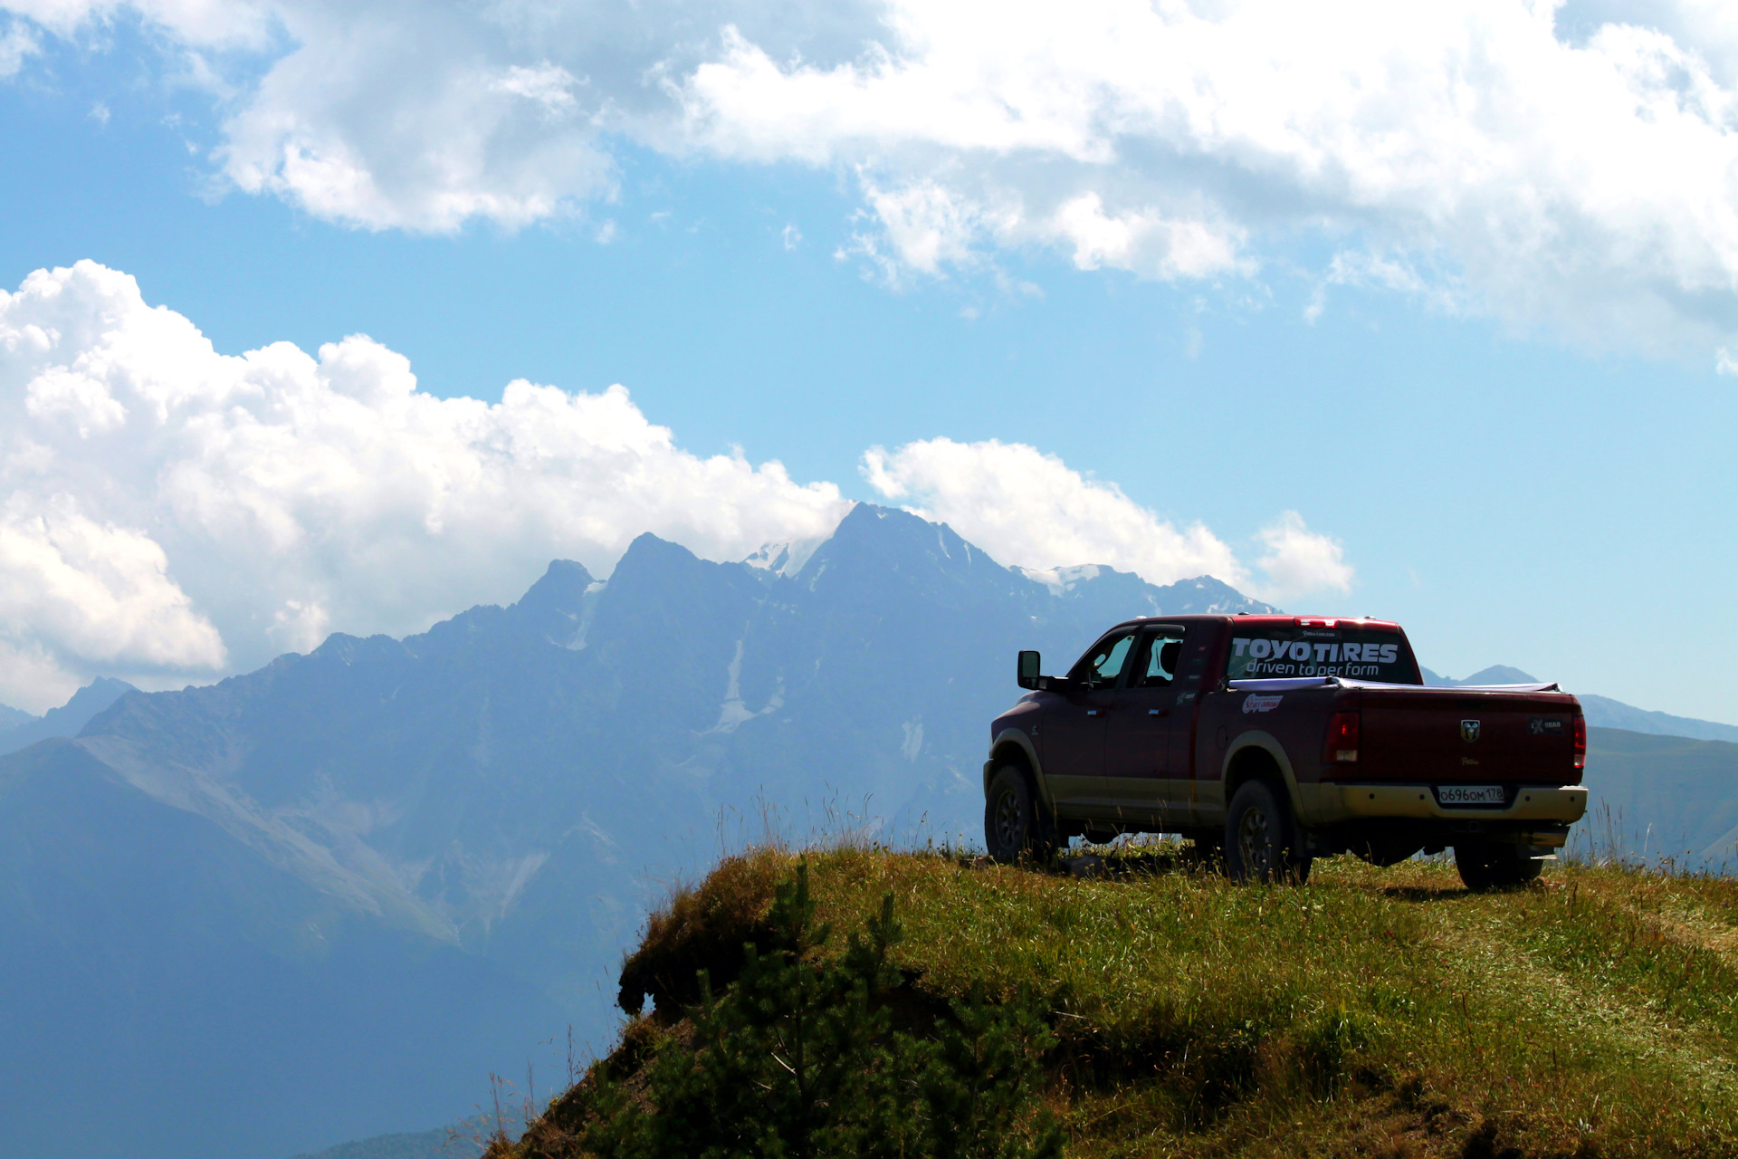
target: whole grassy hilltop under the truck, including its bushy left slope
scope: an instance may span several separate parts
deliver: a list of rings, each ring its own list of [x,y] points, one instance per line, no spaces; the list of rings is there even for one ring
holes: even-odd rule
[[[624,970],[624,1004],[655,1010],[492,1152],[657,1154],[659,1098],[683,1129],[753,1117],[805,1065],[813,1103],[820,1051],[793,1069],[796,1023],[768,1003],[831,978],[829,1050],[892,1046],[850,1055],[867,1077],[810,1109],[885,1103],[839,1112],[869,1126],[813,1135],[817,1156],[1738,1154],[1738,881],[1568,865],[1472,895],[1451,865],[1333,858],[1305,888],[1264,888],[1180,853],[1093,876],[883,850],[730,858]],[[806,928],[831,937],[780,956],[799,864]],[[732,987],[744,942],[760,952]]]

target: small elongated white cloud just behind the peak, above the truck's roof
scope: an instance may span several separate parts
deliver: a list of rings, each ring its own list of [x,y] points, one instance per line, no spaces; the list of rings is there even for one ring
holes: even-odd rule
[[[935,438],[893,452],[872,447],[862,471],[883,497],[1017,566],[1102,563],[1151,584],[1213,575],[1274,601],[1352,586],[1340,546],[1310,532],[1295,511],[1260,532],[1265,551],[1251,570],[1204,525],[1178,528],[1114,483],[1024,443]]]

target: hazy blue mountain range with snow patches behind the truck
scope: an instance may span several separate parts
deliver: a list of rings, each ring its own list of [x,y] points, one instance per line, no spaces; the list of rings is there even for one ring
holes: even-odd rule
[[[0,735],[0,1157],[273,1157],[547,1091],[568,1032],[612,1032],[648,907],[720,851],[977,841],[1015,650],[1057,671],[1130,615],[1265,610],[1006,568],[862,504],[740,563],[641,535],[608,580],[554,561],[419,636],[82,690]],[[1738,768],[1594,733],[1623,810],[1660,761],[1708,801]]]

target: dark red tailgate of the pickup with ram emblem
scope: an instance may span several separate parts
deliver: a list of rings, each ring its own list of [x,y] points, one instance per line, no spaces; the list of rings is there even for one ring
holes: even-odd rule
[[[1364,688],[1359,778],[1580,784],[1575,697],[1467,688]]]

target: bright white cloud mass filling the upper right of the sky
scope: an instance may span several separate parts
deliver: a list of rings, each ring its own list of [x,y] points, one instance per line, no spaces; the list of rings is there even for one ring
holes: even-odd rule
[[[994,207],[972,240],[1201,278],[1316,229],[1366,247],[1340,269],[1443,266],[1519,325],[1712,342],[1738,328],[1729,23],[1625,14],[1575,40],[1559,5],[1516,0],[892,0],[853,61],[726,36],[683,94],[721,155]]]

